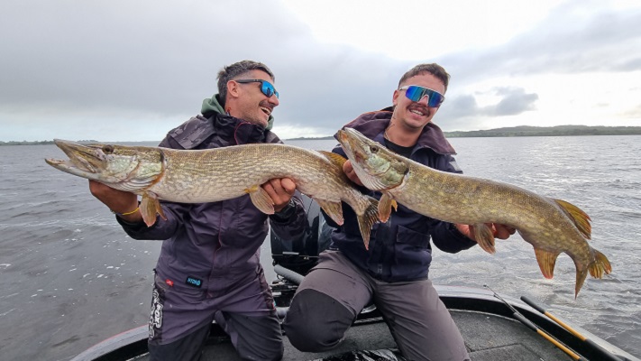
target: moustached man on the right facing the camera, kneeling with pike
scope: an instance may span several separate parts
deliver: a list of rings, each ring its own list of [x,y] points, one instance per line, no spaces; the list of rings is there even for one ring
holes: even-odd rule
[[[410,69],[398,82],[392,104],[365,113],[345,127],[354,128],[393,152],[440,171],[461,173],[454,150],[432,120],[444,102],[449,75],[437,64]],[[334,153],[345,153],[340,147]],[[350,161],[343,171],[362,186]],[[380,192],[362,187],[380,199]],[[329,249],[298,287],[283,323],[292,345],[303,351],[337,346],[353,320],[374,303],[407,359],[469,360],[462,336],[427,278],[434,244],[448,253],[476,245],[467,225],[426,218],[403,205],[389,221],[372,227],[370,247],[362,243],[351,208],[343,206],[343,226],[334,227]],[[490,225],[497,238],[515,232]],[[314,325],[314,327],[309,327]]]

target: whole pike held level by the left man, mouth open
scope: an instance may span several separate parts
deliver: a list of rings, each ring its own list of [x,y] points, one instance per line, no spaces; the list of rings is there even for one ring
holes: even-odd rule
[[[50,166],[142,196],[142,218],[150,227],[156,214],[165,218],[159,199],[206,203],[249,194],[256,208],[273,214],[273,202],[261,184],[285,177],[294,180],[297,189],[316,200],[338,225],[343,224],[341,201],[350,205],[358,216],[365,245],[371,226],[378,221],[378,200],[353,188],[343,173],[346,160],[334,153],[276,143],[175,150],[54,142],[69,160],[46,159]]]

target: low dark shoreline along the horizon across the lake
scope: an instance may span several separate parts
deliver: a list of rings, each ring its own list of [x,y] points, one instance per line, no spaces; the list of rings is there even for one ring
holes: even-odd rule
[[[448,138],[481,138],[481,137],[511,137],[511,136],[574,136],[574,135],[641,135],[641,126],[588,126],[588,125],[556,125],[556,126],[512,126],[488,130],[444,132]],[[288,138],[286,141],[323,141],[334,140],[334,136]],[[101,143],[95,140],[81,140],[79,143]],[[113,142],[137,143],[137,142]],[[45,145],[53,141],[36,142],[2,142],[1,145]]]

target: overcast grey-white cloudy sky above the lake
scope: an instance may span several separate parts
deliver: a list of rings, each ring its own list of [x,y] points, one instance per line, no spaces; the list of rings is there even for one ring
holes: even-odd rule
[[[390,106],[422,62],[452,76],[445,131],[641,126],[637,0],[7,0],[0,17],[0,141],[160,141],[245,59],[276,75],[281,138]]]

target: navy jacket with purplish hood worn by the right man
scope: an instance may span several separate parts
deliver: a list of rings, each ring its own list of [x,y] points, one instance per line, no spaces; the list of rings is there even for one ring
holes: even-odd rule
[[[358,130],[368,138],[385,144],[383,133],[391,119],[391,109],[359,116],[345,125]],[[334,153],[345,156],[339,146]],[[439,171],[462,173],[453,158],[454,149],[447,142],[441,129],[429,123],[415,145],[411,159]],[[380,199],[380,192],[362,188],[366,194]],[[425,279],[432,262],[432,246],[447,253],[457,253],[476,245],[463,236],[453,224],[422,216],[401,204],[392,210],[388,224],[377,223],[372,227],[370,249],[362,243],[356,215],[343,203],[343,227],[332,234],[331,247],[339,249],[354,264],[385,282],[403,282]],[[334,222],[327,218],[329,224]],[[333,224],[335,226],[335,224]]]

